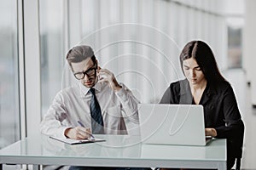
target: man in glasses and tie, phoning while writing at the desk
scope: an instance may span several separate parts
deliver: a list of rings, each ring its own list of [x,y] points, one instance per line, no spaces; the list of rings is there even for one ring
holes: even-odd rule
[[[112,72],[98,65],[92,48],[81,45],[70,49],[67,62],[80,83],[56,94],[41,122],[41,133],[87,139],[92,133],[125,134],[125,122],[138,126],[138,100]]]

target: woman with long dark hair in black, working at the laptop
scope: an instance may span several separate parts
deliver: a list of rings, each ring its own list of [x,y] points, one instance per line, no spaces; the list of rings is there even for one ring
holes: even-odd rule
[[[179,59],[186,78],[172,82],[160,104],[203,105],[206,135],[227,139],[227,169],[231,169],[241,155],[244,131],[233,89],[218,71],[206,42],[188,42]]]

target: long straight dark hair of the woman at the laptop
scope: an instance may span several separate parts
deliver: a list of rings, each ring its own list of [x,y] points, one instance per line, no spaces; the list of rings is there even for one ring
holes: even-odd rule
[[[179,56],[180,65],[183,71],[183,60],[194,58],[197,64],[201,67],[207,82],[222,82],[225,81],[224,77],[218,70],[216,59],[212,53],[212,49],[206,42],[191,41],[188,42],[183,48]],[[183,71],[184,73],[184,71]]]

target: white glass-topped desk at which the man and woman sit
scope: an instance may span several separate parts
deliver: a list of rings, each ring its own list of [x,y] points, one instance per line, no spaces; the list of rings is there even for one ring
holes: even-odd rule
[[[98,135],[106,142],[63,144],[41,135],[0,150],[0,164],[226,169],[226,140],[207,146],[141,144],[139,136]]]

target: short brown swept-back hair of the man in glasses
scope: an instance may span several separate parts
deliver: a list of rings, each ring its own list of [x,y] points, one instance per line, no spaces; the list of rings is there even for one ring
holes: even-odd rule
[[[79,63],[84,59],[88,59],[88,58],[92,59],[93,63],[96,62],[96,57],[94,55],[93,49],[87,45],[79,45],[71,48],[67,52],[67,56],[66,56],[67,62],[71,68],[72,68],[71,63]]]

